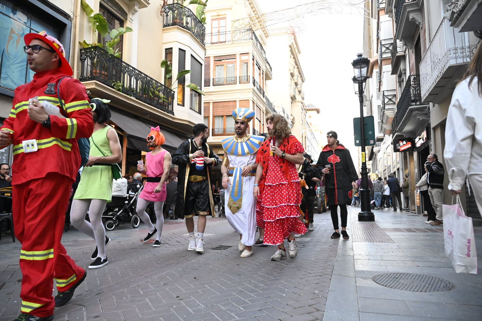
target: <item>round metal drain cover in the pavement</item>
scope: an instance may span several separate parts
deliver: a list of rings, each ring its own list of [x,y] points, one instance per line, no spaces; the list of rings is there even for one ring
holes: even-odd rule
[[[372,278],[376,283],[398,290],[414,292],[448,291],[454,283],[431,275],[415,273],[385,273]]]

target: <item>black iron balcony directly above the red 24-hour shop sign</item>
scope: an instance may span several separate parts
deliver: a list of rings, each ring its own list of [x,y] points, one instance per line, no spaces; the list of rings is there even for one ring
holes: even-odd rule
[[[422,102],[420,93],[420,76],[410,75],[397,103],[397,113],[393,121],[396,133],[415,137],[417,131],[427,126],[429,120],[428,104]]]

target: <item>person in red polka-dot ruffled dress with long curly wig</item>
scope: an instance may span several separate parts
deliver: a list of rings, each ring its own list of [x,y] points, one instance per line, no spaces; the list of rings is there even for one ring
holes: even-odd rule
[[[289,256],[296,257],[295,234],[307,229],[299,220],[301,215],[301,187],[296,164],[303,164],[305,151],[286,118],[274,113],[266,117],[268,139],[263,142],[256,156],[254,198],[256,223],[265,229],[264,244],[278,245],[272,261],[286,258],[284,239],[288,239]]]

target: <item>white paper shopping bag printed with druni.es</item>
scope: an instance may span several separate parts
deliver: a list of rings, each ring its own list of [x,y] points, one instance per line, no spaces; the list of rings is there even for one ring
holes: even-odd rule
[[[450,258],[455,272],[477,274],[472,218],[465,215],[458,195],[457,203],[443,205],[442,211],[445,254]]]

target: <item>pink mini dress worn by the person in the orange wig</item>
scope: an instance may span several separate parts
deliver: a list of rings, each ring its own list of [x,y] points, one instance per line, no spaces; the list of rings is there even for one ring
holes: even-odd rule
[[[147,177],[161,177],[164,173],[164,155],[166,150],[153,155],[152,152],[146,154]],[[146,182],[139,198],[152,202],[162,202],[166,200],[166,183],[162,185],[161,193],[154,193],[154,189],[159,185],[158,182]]]

